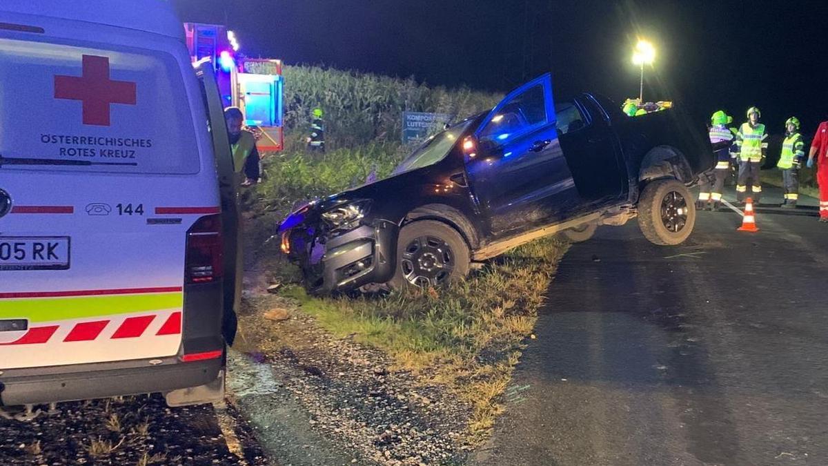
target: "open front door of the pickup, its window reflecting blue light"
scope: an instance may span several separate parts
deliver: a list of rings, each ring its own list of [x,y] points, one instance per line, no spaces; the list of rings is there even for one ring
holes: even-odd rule
[[[561,220],[574,183],[556,121],[547,73],[510,92],[474,132],[479,150],[466,171],[493,235]]]

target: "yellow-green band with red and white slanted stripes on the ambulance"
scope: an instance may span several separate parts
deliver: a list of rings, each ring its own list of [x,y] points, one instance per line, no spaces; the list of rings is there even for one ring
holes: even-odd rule
[[[4,347],[29,349],[0,359],[26,366],[174,354],[183,299],[181,286],[0,293],[0,318],[29,323],[25,333],[0,334],[0,355]]]

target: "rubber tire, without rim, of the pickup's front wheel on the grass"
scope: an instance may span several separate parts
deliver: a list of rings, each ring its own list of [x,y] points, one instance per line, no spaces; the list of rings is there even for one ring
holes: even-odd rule
[[[469,263],[471,262],[469,245],[466,244],[463,236],[458,231],[441,221],[414,221],[403,226],[400,234],[397,236],[397,264],[394,265],[394,275],[391,281],[388,282],[388,286],[392,289],[404,289],[409,286],[415,286],[406,279],[403,273],[403,254],[413,240],[423,236],[439,238],[445,241],[445,245],[448,245],[450,249],[451,256],[454,260],[454,267],[449,277],[445,279],[445,282],[450,283],[465,279],[469,274]]]

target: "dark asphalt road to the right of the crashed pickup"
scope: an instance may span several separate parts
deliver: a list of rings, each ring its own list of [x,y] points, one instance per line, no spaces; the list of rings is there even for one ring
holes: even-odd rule
[[[650,245],[635,221],[573,245],[475,462],[828,464],[816,218],[759,207],[761,231],[744,233],[733,211],[700,212],[680,247]]]

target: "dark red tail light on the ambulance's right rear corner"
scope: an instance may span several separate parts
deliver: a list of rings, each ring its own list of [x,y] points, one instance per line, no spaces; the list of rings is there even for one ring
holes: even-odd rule
[[[224,272],[223,263],[221,216],[203,216],[187,231],[186,283],[214,282]]]

